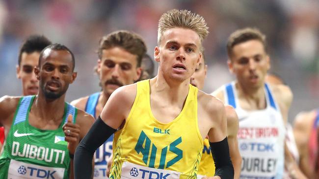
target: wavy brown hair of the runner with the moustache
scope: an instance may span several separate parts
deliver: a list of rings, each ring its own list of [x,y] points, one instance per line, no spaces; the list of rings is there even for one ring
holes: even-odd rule
[[[126,30],[112,32],[99,42],[98,56],[102,58],[102,51],[113,47],[120,47],[124,50],[137,55],[137,67],[141,66],[141,61],[147,48],[144,40],[137,34]]]

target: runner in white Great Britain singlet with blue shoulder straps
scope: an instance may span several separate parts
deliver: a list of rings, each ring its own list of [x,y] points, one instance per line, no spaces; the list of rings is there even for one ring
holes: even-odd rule
[[[233,106],[239,117],[240,179],[282,179],[284,165],[293,178],[304,178],[285,144],[292,92],[286,85],[265,82],[270,68],[265,35],[254,28],[239,29],[230,35],[227,52],[236,81],[213,95]]]

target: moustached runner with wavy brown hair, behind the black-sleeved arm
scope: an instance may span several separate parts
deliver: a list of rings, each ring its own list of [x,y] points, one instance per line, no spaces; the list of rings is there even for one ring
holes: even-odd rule
[[[129,31],[115,31],[99,42],[96,72],[99,75],[101,92],[71,102],[75,107],[98,118],[111,93],[133,84],[141,75],[141,61],[146,53],[144,40]],[[102,144],[94,155],[94,179],[105,179],[107,161],[112,154],[113,135]]]

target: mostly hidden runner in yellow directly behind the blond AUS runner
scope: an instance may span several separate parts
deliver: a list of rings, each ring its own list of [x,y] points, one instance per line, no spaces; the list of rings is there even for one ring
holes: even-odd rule
[[[199,61],[195,72],[190,77],[190,84],[197,87],[198,90],[203,90],[205,78],[207,74],[206,56],[204,48],[201,50],[202,57]],[[234,166],[234,179],[239,179],[241,168],[241,156],[238,149],[237,132],[239,128],[238,116],[232,106],[225,106],[227,118],[227,139],[229,146],[230,157]],[[215,165],[211,153],[210,143],[208,137],[204,139],[204,148],[201,161],[199,163],[197,178],[201,179],[203,176],[214,176]]]

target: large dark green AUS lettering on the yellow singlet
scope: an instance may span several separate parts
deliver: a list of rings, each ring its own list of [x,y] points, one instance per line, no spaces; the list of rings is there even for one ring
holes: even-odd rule
[[[158,148],[151,141],[151,139],[142,131],[138,137],[138,140],[135,146],[135,151],[137,152],[137,154],[141,153],[143,155],[143,159],[142,159],[143,162],[148,167],[152,167],[152,168],[155,168],[154,165],[155,165],[156,156],[160,156],[160,164],[158,166],[159,166],[159,169],[164,169],[164,167],[168,168],[183,158],[183,151],[176,147],[180,143],[182,143],[182,137],[177,138],[168,146],[165,146],[164,148],[162,148],[161,154],[157,155]],[[151,144],[152,144],[152,148],[151,148]],[[166,162],[167,152],[174,153],[176,157]]]

